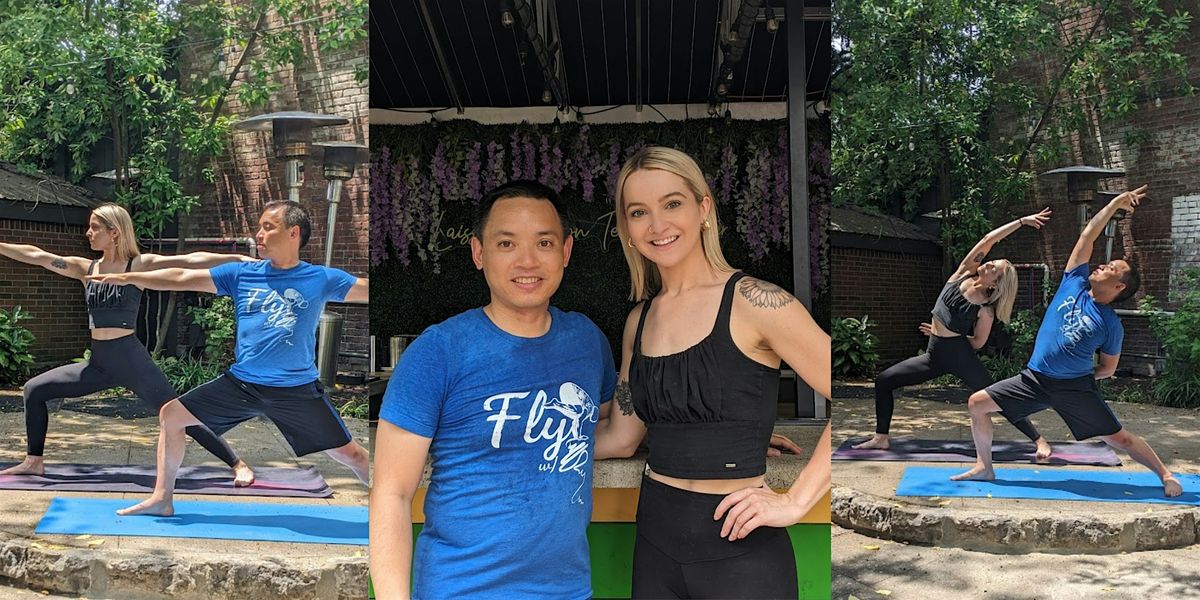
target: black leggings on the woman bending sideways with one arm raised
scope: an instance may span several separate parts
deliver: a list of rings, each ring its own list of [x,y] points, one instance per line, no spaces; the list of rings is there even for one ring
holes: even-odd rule
[[[966,336],[929,336],[925,354],[892,365],[875,378],[875,432],[886,434],[892,428],[896,390],[905,385],[925,383],[946,373],[961,379],[972,392],[994,383]],[[1010,422],[1030,439],[1036,440],[1042,437],[1028,418]]]

